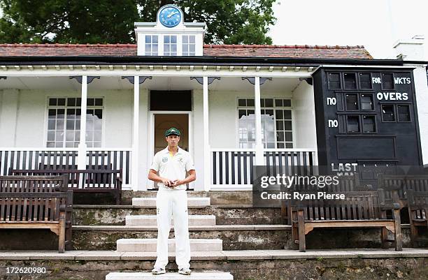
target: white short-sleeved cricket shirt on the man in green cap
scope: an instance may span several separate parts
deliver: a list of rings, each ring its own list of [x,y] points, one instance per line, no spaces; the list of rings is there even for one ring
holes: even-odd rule
[[[183,180],[186,178],[186,171],[194,170],[194,163],[190,154],[184,149],[178,147],[178,152],[173,156],[168,150],[168,147],[162,149],[155,154],[150,169],[155,170],[160,177],[164,177],[170,180]],[[157,183],[159,188],[171,189],[164,186],[164,183]],[[185,190],[186,185],[176,186],[176,190]]]

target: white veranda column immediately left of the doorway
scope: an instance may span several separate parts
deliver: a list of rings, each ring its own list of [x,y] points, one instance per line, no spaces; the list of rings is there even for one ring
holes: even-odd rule
[[[138,142],[140,140],[140,129],[139,129],[139,117],[140,117],[140,77],[134,76],[134,127],[132,128],[132,175],[131,184],[132,190],[138,191],[139,179],[138,179]]]

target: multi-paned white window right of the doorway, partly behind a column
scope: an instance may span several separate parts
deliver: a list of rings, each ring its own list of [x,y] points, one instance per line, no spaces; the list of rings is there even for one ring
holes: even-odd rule
[[[262,142],[265,148],[292,148],[290,99],[261,98]],[[238,99],[239,147],[255,147],[254,99]]]

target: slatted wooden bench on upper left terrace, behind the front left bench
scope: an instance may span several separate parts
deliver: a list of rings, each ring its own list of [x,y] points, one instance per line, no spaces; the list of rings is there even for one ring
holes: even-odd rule
[[[122,170],[17,170],[9,175],[67,175],[68,189],[74,193],[112,193],[116,204],[122,200]]]

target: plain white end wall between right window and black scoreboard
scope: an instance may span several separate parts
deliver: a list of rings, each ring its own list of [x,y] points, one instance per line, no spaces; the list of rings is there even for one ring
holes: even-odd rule
[[[315,101],[313,87],[301,81],[293,92],[294,135],[296,148],[311,149],[317,146],[315,128]]]

